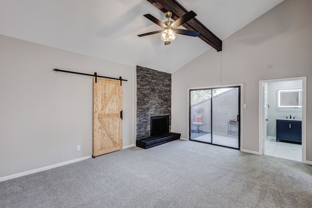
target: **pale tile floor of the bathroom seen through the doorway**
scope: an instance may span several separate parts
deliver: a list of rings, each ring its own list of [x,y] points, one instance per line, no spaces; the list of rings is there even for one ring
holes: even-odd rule
[[[264,144],[264,154],[294,161],[302,161],[302,146],[287,142],[276,142],[275,137],[268,137]]]

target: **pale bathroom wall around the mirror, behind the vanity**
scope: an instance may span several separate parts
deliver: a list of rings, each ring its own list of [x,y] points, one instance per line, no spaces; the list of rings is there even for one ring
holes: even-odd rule
[[[272,82],[268,83],[268,123],[267,135],[276,137],[276,118],[292,118],[295,116],[297,119],[302,119],[301,108],[277,108],[277,90],[278,89],[301,89],[302,80],[285,81],[285,82]]]

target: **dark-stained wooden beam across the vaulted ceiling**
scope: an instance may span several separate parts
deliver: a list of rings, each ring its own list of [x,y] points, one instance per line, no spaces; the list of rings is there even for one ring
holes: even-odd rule
[[[174,19],[175,21],[188,12],[187,9],[185,9],[176,0],[148,0],[148,1],[164,13],[167,11],[172,12],[172,19]],[[222,51],[222,41],[196,18],[182,24],[182,26],[188,30],[195,30],[199,32],[200,34],[198,35],[198,38],[200,38],[204,42],[207,42],[217,51]]]

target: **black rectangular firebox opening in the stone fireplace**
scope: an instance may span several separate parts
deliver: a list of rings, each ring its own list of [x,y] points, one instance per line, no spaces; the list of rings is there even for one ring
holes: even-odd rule
[[[169,133],[169,116],[151,117],[151,136]]]

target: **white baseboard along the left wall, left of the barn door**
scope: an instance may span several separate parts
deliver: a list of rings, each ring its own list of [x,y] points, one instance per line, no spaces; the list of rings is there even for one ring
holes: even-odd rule
[[[21,177],[21,176],[24,176],[24,175],[37,173],[37,172],[40,172],[40,171],[43,171],[43,170],[52,169],[52,168],[59,167],[59,166],[65,166],[65,165],[68,165],[68,164],[71,164],[71,163],[76,163],[76,162],[79,162],[79,161],[82,161],[82,160],[86,160],[86,159],[90,159],[90,158],[92,158],[92,155],[89,155],[89,156],[86,156],[86,157],[77,158],[77,159],[66,161],[66,162],[62,162],[62,163],[58,163],[58,164],[51,165],[51,166],[40,167],[40,168],[37,168],[37,169],[28,170],[28,171],[25,171],[25,172],[21,172],[21,173],[9,175],[9,176],[4,176],[4,177],[0,178],[0,182],[1,181],[7,181],[7,180],[10,180],[10,179],[13,179],[13,178],[18,178],[18,177]]]

